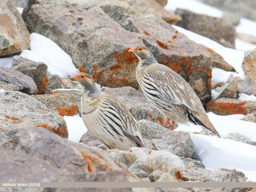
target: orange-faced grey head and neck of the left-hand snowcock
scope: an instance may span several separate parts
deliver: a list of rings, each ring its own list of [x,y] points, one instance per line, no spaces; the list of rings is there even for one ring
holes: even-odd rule
[[[98,87],[94,83],[93,78],[89,74],[78,73],[71,76],[70,79],[71,81],[79,82],[82,85],[85,93],[88,93],[88,95],[95,96],[100,94],[100,89],[98,89]]]

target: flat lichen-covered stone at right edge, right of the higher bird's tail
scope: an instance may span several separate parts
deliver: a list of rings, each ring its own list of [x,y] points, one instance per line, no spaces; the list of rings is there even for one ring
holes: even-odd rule
[[[254,101],[240,101],[239,99],[219,98],[207,103],[207,112],[217,115],[250,114],[256,109]]]

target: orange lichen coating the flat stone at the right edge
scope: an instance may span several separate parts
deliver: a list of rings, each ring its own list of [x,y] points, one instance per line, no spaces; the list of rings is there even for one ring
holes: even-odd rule
[[[209,101],[207,103],[207,111],[220,111],[223,115],[234,115],[234,114],[247,114],[247,109],[244,107],[247,104],[246,101],[241,103],[232,102],[217,102]],[[221,112],[222,111],[222,112]]]

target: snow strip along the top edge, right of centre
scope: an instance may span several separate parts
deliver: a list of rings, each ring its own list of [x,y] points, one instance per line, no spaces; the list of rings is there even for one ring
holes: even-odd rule
[[[169,0],[164,7],[164,9],[167,11],[175,11],[177,8],[187,9],[196,13],[206,14],[218,18],[221,18],[223,15],[223,11],[195,0]]]

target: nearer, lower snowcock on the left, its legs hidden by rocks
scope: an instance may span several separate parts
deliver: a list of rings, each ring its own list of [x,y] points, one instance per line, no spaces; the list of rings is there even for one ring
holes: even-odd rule
[[[144,147],[139,126],[126,106],[113,96],[101,92],[86,73],[70,77],[83,87],[81,116],[93,137],[109,149],[128,150]]]

